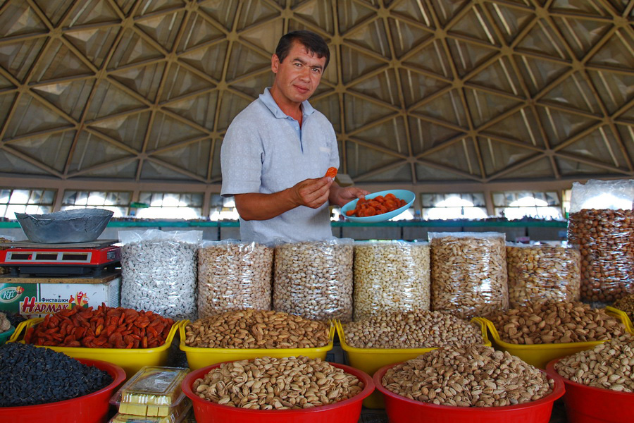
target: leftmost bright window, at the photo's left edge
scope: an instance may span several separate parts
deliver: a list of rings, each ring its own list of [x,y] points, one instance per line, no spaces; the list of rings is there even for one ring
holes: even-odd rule
[[[51,213],[55,194],[55,190],[0,189],[0,216],[15,219],[15,213]]]

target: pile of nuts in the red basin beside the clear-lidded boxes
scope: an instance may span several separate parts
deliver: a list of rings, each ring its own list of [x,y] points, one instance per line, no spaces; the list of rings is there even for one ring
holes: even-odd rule
[[[363,391],[363,382],[320,359],[262,357],[220,364],[192,390],[200,398],[252,410],[289,410],[338,403]]]

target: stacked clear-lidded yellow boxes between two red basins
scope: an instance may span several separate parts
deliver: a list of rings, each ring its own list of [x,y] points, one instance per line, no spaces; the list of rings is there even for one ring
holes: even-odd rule
[[[166,417],[175,412],[185,395],[180,384],[189,369],[182,367],[144,366],[117,391],[111,404],[118,405],[124,415]]]

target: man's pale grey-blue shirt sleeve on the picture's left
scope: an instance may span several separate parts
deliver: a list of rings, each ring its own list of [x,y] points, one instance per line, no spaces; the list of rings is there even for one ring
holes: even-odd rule
[[[220,195],[230,197],[260,192],[263,145],[258,129],[248,121],[234,119],[220,147],[223,188]]]

